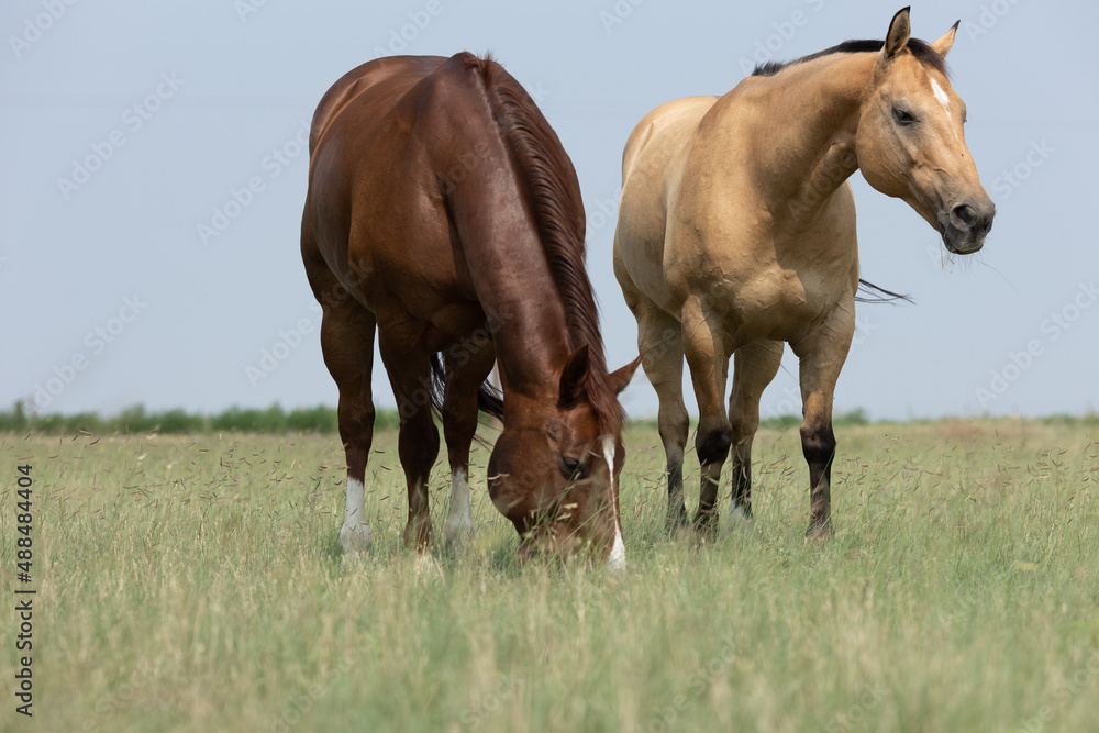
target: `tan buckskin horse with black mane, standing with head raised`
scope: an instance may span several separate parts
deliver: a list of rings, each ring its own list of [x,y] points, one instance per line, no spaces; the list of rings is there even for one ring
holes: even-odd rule
[[[908,202],[952,253],[979,249],[992,223],[963,136],[965,104],[943,60],[956,31],[957,23],[932,44],[910,38],[906,8],[884,42],[851,41],[758,67],[724,97],[657,108],[631,134],[614,274],[659,397],[669,527],[687,523],[684,356],[700,413],[695,524],[713,531],[730,447],[731,519],[752,517],[759,397],[787,342],[800,360],[808,534],[832,532],[832,396],[859,282],[847,177],[861,169],[870,186]]]

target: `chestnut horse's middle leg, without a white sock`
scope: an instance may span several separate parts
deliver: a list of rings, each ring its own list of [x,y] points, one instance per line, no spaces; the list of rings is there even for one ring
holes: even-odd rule
[[[408,481],[409,519],[404,525],[406,546],[424,554],[431,542],[431,514],[428,511],[428,477],[439,456],[439,430],[431,414],[431,371],[429,355],[419,349],[401,353],[387,343],[381,331],[381,359],[397,398],[400,433],[397,453]]]

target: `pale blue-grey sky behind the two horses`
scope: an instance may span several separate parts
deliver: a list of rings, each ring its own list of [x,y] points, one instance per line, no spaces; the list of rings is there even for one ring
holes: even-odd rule
[[[0,404],[335,404],[298,254],[301,129],[341,75],[393,52],[492,52],[540,100],[579,173],[620,366],[636,355],[610,264],[633,125],[669,99],[726,92],[756,60],[880,38],[899,5],[7,0]],[[852,178],[864,277],[918,303],[859,306],[836,410],[1095,410],[1099,5],[918,2],[913,34],[934,40],[958,19],[948,60],[996,225],[979,255],[952,260],[914,211]],[[392,406],[377,364],[376,401]],[[764,417],[800,412],[789,349],[785,365]],[[655,413],[640,373],[623,402]]]

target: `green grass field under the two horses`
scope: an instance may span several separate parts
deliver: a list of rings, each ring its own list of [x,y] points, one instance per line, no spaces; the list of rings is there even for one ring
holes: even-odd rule
[[[0,434],[0,729],[1096,731],[1097,433],[844,427],[818,545],[797,430],[762,431],[754,527],[699,547],[664,535],[663,452],[639,425],[621,577],[517,567],[484,451],[476,540],[418,575],[392,432],[351,568],[334,436]],[[33,719],[12,695],[24,464]]]

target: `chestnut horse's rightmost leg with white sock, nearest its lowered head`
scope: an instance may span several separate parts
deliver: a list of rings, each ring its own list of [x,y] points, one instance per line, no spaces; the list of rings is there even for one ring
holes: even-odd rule
[[[451,509],[445,532],[452,549],[459,549],[474,530],[469,511],[469,446],[477,432],[477,392],[495,360],[488,338],[471,342],[463,358],[446,359],[443,436],[451,465]]]

